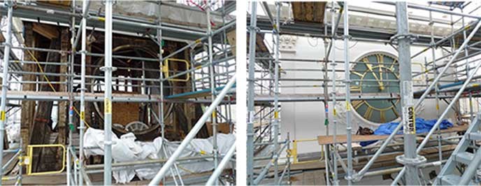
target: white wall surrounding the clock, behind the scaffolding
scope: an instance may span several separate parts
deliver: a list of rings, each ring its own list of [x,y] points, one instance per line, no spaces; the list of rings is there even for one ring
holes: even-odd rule
[[[289,58],[289,59],[322,59],[324,57],[324,41],[319,39],[316,41],[315,38],[306,38],[306,37],[296,37],[296,36],[282,36],[282,43],[281,45],[281,58]],[[287,38],[286,38],[287,37]],[[289,41],[286,43],[285,41]],[[424,48],[422,47],[411,47],[411,54],[415,54]],[[350,42],[350,60],[354,61],[354,59],[359,58],[361,55],[366,54],[367,52],[373,51],[383,51],[389,52],[395,56],[397,56],[396,50],[392,48],[390,45],[383,45],[380,43],[357,43],[355,41]],[[437,50],[436,57],[441,57],[443,55],[443,51]],[[344,60],[343,57],[343,41],[336,42],[336,60]],[[412,62],[421,62],[424,64],[424,57],[426,57],[427,61],[430,62],[431,57],[431,50],[428,52],[424,52],[423,55],[419,55],[412,59]],[[444,61],[443,61],[444,62]],[[440,62],[441,63],[441,62]],[[282,69],[322,69],[322,64],[320,63],[313,63],[313,62],[281,62]],[[329,65],[329,69],[332,67]],[[337,69],[344,69],[343,64],[338,64],[336,66]],[[420,71],[419,65],[413,65],[412,71]],[[340,80],[344,79],[344,73],[336,73],[336,80],[340,83]],[[318,78],[322,79],[324,74],[320,71],[313,72],[313,71],[287,71],[285,74],[282,74],[281,78]],[[426,85],[426,82],[423,77],[416,77],[415,79],[422,78],[422,82],[415,82],[415,85],[422,83],[422,85]],[[329,73],[329,79],[331,79],[331,73]],[[282,86],[285,85],[322,85],[322,82],[313,82],[313,81],[282,81]],[[418,88],[419,89],[419,88]],[[331,90],[329,90],[331,92]],[[345,87],[343,85],[338,84],[337,86],[338,94],[343,94],[345,92]],[[322,94],[323,90],[322,87],[296,87],[296,88],[288,88],[283,87],[281,89],[281,94]],[[282,111],[280,113],[281,118],[281,132],[282,138],[287,136],[289,133],[289,137],[291,139],[306,139],[306,138],[317,138],[317,136],[322,136],[326,134],[326,127],[324,126],[324,104],[322,102],[282,102]],[[441,111],[445,109],[447,105],[440,101],[440,108]],[[329,112],[332,111],[332,103],[329,102]],[[345,108],[345,103],[343,101],[338,101],[336,110],[338,111],[338,124],[337,124],[337,134],[346,134],[345,132],[345,117],[343,110]],[[436,109],[436,102],[434,99],[427,99],[424,101],[424,106],[420,109],[420,112],[417,113],[417,117],[422,117],[424,119],[435,119],[436,112],[433,111]],[[429,111],[428,111],[429,110]],[[448,117],[453,117],[454,114],[451,113]],[[329,113],[329,117],[332,117],[332,113]],[[332,121],[332,118],[329,118],[329,121]],[[352,131],[355,133],[357,131],[358,124],[366,127],[367,125],[364,124],[359,120],[359,118],[355,117],[353,114],[353,128]],[[369,127],[369,126],[367,126]],[[371,126],[373,129],[375,127]],[[329,134],[333,134],[333,124],[331,122],[329,126]],[[317,145],[317,142],[312,143],[299,143],[298,144],[298,153],[304,152],[319,152],[320,145]]]

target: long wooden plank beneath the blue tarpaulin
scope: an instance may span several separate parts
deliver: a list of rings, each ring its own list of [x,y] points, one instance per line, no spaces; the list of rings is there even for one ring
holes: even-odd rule
[[[451,132],[458,132],[458,131],[466,131],[468,129],[468,125],[457,125],[451,127],[450,129],[441,130],[441,133],[451,133]],[[422,135],[422,134],[417,134]],[[362,141],[377,141],[386,139],[389,135],[352,135],[352,142],[362,142]],[[396,138],[402,137],[403,135],[396,135]],[[336,143],[346,143],[347,136],[343,135],[336,135]],[[317,143],[319,145],[329,145],[333,144],[333,136],[317,136]]]

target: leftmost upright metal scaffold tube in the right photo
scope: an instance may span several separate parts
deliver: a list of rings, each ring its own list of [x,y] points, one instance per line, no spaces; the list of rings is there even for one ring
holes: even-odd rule
[[[249,64],[247,77],[247,185],[254,182],[254,83],[255,83],[255,52],[257,27],[257,1],[251,1],[249,30]]]

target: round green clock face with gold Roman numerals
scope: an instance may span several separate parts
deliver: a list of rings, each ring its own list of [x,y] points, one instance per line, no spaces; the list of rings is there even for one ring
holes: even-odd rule
[[[399,63],[386,52],[370,52],[361,56],[350,70],[351,94],[361,96],[389,96],[399,94]],[[375,122],[392,122],[399,118],[399,99],[352,100],[352,108],[364,119]]]

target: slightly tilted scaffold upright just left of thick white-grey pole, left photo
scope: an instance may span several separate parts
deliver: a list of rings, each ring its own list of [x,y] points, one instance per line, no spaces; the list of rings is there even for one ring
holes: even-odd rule
[[[82,13],[85,15],[88,11],[87,9],[87,4],[89,3],[88,0],[84,0],[82,2]],[[78,169],[82,170],[83,169],[83,137],[84,137],[84,132],[85,132],[85,91],[87,90],[85,88],[85,61],[86,61],[86,55],[85,52],[87,52],[87,19],[85,17],[82,17],[82,21],[80,24],[81,32],[82,34],[82,55],[81,55],[81,66],[80,66],[80,127],[78,128],[80,130],[80,154],[78,155],[79,159],[79,164],[78,164]],[[73,50],[75,50],[75,45],[72,45]],[[83,174],[80,173],[78,175],[78,185],[83,185]]]

